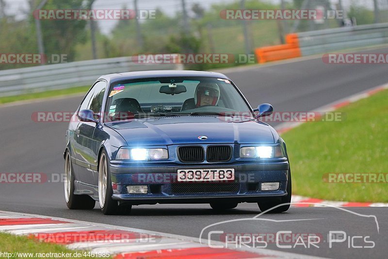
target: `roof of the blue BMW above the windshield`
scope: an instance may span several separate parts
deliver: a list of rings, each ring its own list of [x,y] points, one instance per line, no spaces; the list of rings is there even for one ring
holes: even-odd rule
[[[226,75],[217,72],[194,71],[194,70],[151,70],[115,73],[101,76],[99,79],[105,79],[109,82],[155,77],[214,77],[229,79]]]

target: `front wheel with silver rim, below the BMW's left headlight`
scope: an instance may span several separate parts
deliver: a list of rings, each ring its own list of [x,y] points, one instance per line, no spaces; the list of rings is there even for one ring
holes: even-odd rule
[[[112,199],[113,189],[111,172],[109,171],[109,158],[105,150],[101,152],[98,163],[98,202],[102,213],[105,215],[124,215],[129,214],[131,205],[118,205],[116,200]]]

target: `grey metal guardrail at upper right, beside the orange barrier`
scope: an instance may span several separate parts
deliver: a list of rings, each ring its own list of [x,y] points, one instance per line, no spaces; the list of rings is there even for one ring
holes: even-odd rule
[[[388,43],[388,23],[298,33],[302,56]]]

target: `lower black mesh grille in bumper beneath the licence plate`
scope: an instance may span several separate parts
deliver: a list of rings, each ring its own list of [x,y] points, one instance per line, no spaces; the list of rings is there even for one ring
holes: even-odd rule
[[[171,191],[176,194],[193,193],[237,193],[240,190],[238,182],[232,183],[173,183]]]

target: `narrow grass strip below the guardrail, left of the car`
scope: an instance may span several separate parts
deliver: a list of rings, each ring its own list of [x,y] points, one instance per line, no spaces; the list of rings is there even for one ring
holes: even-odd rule
[[[61,90],[49,90],[45,92],[22,94],[18,96],[5,96],[5,97],[0,97],[0,104],[15,102],[15,101],[30,100],[30,99],[36,99],[36,98],[47,98],[47,97],[65,96],[65,95],[71,95],[71,94],[77,94],[77,93],[86,93],[86,91],[88,91],[89,88],[90,86],[79,86],[79,87],[72,87],[72,88],[61,89]]]

